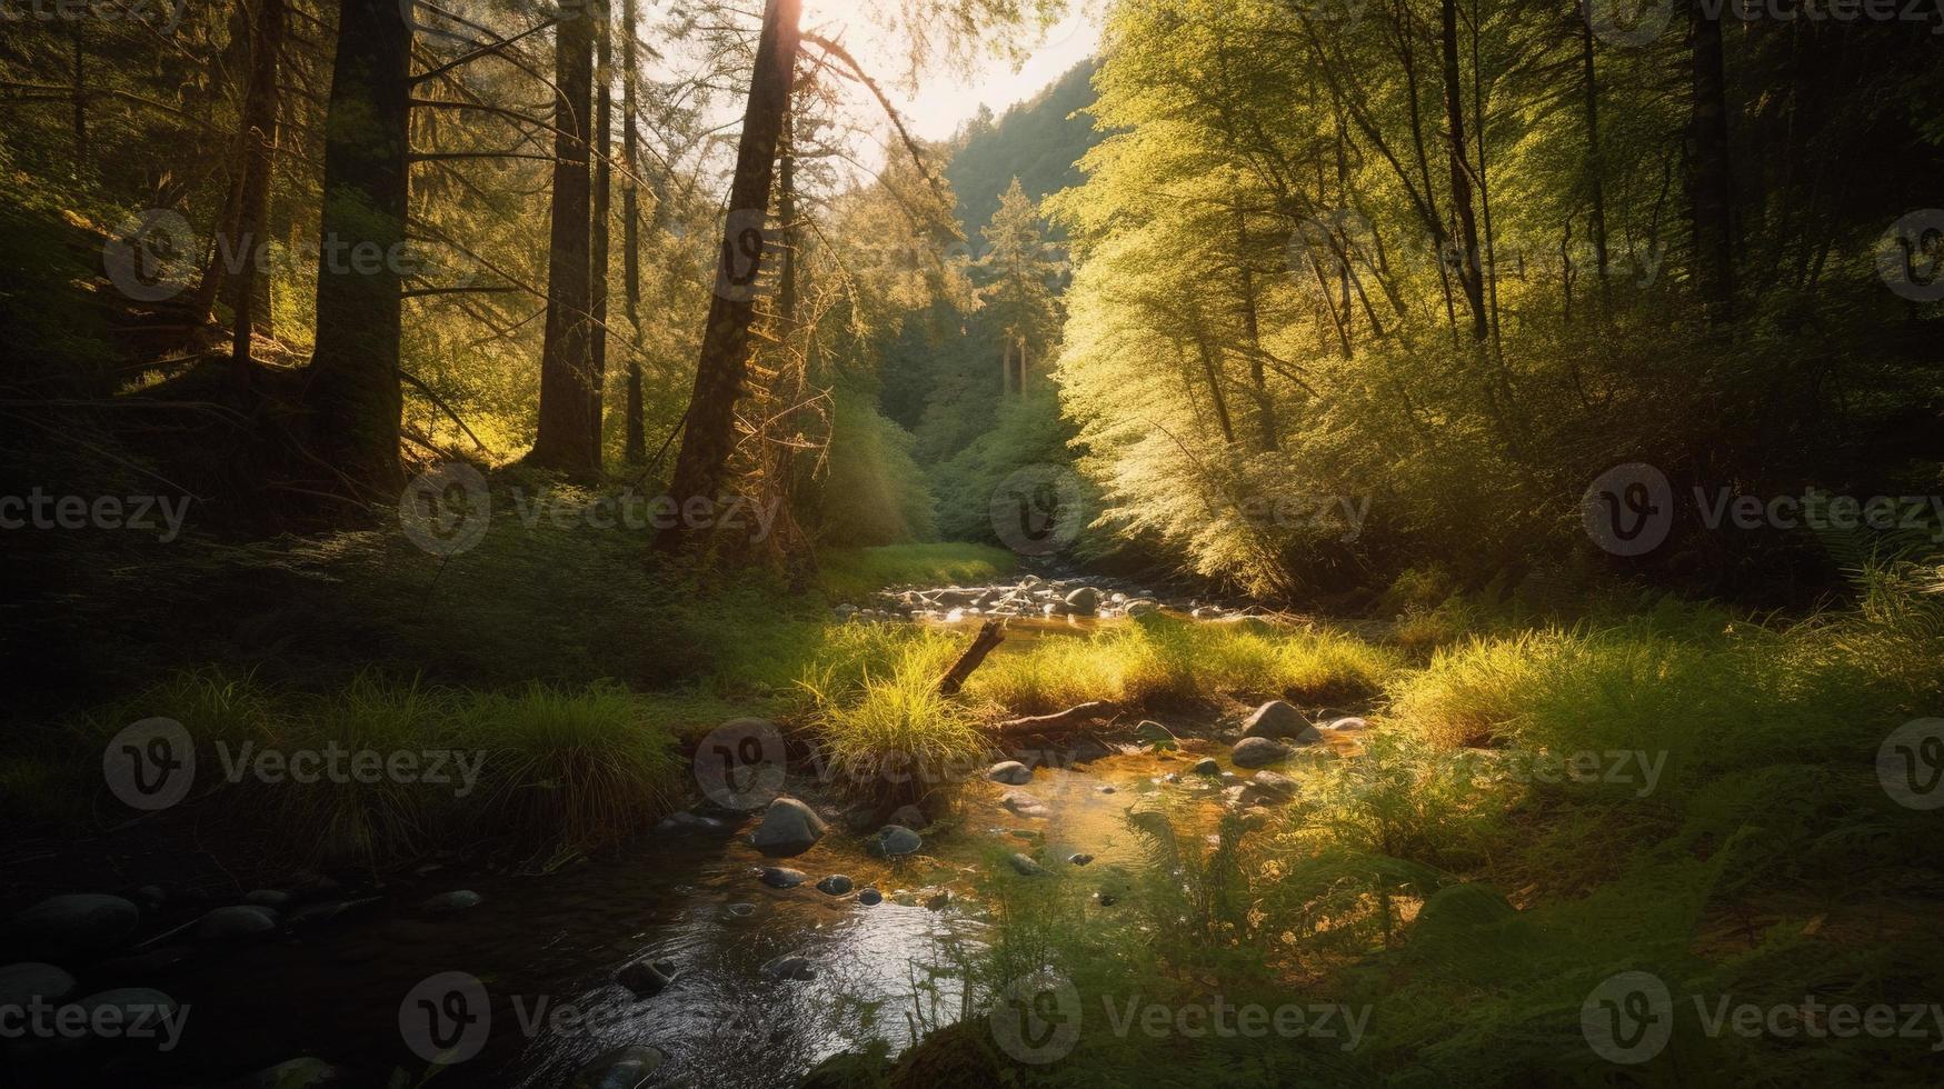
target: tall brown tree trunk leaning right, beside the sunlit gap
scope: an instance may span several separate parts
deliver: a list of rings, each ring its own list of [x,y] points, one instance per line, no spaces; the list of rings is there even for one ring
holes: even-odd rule
[[[729,224],[723,231],[715,298],[702,331],[702,358],[696,362],[696,389],[688,399],[682,451],[675,459],[669,486],[678,509],[692,500],[713,502],[735,449],[735,403],[748,369],[748,329],[756,317],[756,278],[762,272],[764,231],[770,212],[770,185],[776,179],[776,144],[789,109],[789,84],[797,66],[797,19],[803,0],[768,0],[756,68],[748,82],[743,113],[743,140],[737,146],[735,179],[729,185]],[[688,541],[688,527],[677,519],[655,546],[673,552]]]

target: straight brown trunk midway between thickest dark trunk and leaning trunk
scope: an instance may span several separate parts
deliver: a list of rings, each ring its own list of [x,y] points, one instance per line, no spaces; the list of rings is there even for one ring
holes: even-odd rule
[[[593,412],[593,278],[587,136],[593,128],[595,33],[587,6],[566,6],[554,39],[554,210],[540,348],[540,428],[527,461],[577,478],[599,471]]]

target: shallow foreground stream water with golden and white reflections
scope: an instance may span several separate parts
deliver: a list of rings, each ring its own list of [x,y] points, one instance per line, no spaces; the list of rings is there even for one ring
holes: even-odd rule
[[[1168,801],[1186,821],[1213,825],[1221,788],[1236,780],[1192,774],[1199,755],[1229,768],[1227,747],[1198,739],[1172,755],[1120,751],[1083,766],[1042,755],[1048,766],[1028,786],[968,784],[951,823],[898,861],[873,858],[861,836],[834,826],[789,860],[766,860],[735,836],[690,834],[546,877],[428,873],[377,891],[387,902],[369,914],[260,945],[198,947],[169,972],[124,980],[189,1005],[187,1031],[173,1054],[130,1056],[101,1081],[128,1083],[140,1071],[140,1083],[220,1083],[294,1056],[336,1064],[354,1085],[383,1085],[393,1068],[416,1081],[430,1064],[406,1046],[400,1017],[424,1013],[406,998],[428,976],[469,972],[488,996],[484,1046],[439,1071],[437,1085],[570,1085],[579,1068],[624,1044],[667,1052],[657,1083],[795,1085],[824,1056],[871,1038],[898,1052],[914,1023],[923,1031],[958,1019],[955,965],[984,931],[978,885],[995,873],[1023,879],[1005,869],[1007,854],[1034,856],[1083,891],[1122,891],[1141,858],[1128,809]],[[1279,770],[1301,776],[1301,762]],[[1163,782],[1170,772],[1180,782]],[[1052,815],[1011,813],[999,803],[1011,790]],[[1094,861],[1067,865],[1075,852]],[[770,889],[756,881],[760,865],[809,879]],[[885,902],[826,896],[815,889],[826,873],[875,885]],[[484,902],[449,916],[410,906],[449,889],[474,889]],[[941,891],[951,902],[925,906]],[[731,904],[750,912],[737,916]],[[770,978],[764,965],[785,955],[809,959],[815,978]],[[671,959],[680,976],[659,996],[636,998],[614,972],[642,957]],[[925,1009],[918,1021],[914,1001]],[[560,1019],[564,1007],[572,1017]]]

